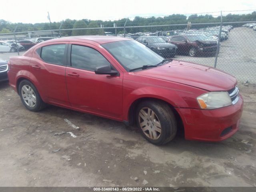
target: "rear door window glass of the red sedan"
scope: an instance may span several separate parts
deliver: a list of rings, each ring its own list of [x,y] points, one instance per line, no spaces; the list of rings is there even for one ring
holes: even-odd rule
[[[48,45],[42,47],[41,58],[47,62],[58,65],[64,64],[64,53],[66,44]]]

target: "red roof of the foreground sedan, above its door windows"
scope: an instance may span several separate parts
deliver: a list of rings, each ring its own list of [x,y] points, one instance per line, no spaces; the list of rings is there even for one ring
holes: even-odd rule
[[[58,39],[54,39],[54,40],[49,40],[51,42],[54,41],[59,41],[59,40],[81,40],[81,42],[83,42],[84,40],[90,40],[90,41],[94,41],[98,44],[104,44],[104,43],[110,43],[110,42],[116,42],[116,41],[125,41],[125,40],[131,40],[128,38],[124,38],[124,37],[116,37],[116,36],[100,36],[100,35],[91,35],[91,36],[71,36],[71,37],[63,37],[63,38],[58,38]]]

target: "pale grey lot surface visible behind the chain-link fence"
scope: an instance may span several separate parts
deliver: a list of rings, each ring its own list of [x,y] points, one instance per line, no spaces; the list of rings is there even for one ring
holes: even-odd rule
[[[251,83],[256,83],[256,31],[246,27],[234,28],[230,31],[228,40],[220,44],[217,68],[236,76],[239,82],[249,80]],[[20,55],[23,53],[20,52]],[[0,58],[9,60],[10,56],[17,55],[17,53],[0,53]],[[174,59],[213,67],[215,57],[176,55]]]

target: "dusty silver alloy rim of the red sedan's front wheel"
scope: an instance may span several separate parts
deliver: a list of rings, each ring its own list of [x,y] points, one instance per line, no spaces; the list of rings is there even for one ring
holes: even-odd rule
[[[140,128],[148,138],[156,140],[160,137],[162,132],[161,124],[152,109],[148,107],[142,108],[139,112],[138,118]]]

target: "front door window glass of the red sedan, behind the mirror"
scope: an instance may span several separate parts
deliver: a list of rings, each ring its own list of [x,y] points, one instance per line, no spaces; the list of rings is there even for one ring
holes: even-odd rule
[[[110,62],[93,48],[72,45],[71,49],[71,66],[75,68],[94,71],[96,67],[108,65]],[[111,67],[111,66],[110,66]]]

